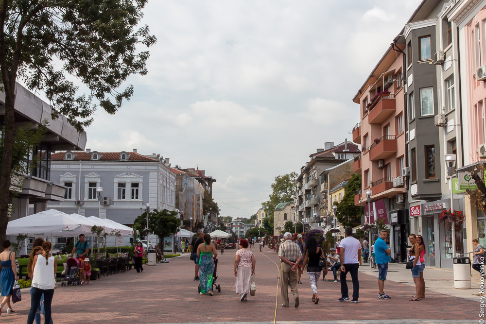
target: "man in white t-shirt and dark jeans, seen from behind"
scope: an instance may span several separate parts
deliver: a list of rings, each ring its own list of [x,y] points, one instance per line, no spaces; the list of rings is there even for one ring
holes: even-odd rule
[[[353,229],[351,227],[347,227],[344,230],[344,236],[345,238],[341,240],[339,246],[339,259],[341,261],[341,298],[339,298],[339,301],[349,300],[346,275],[350,273],[353,281],[353,299],[351,303],[357,303],[360,293],[358,269],[361,259],[361,243],[353,238]]]

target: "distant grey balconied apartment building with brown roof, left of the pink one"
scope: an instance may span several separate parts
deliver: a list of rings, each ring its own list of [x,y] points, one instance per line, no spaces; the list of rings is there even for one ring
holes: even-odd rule
[[[361,151],[358,145],[346,139],[338,145],[334,145],[334,142],[325,142],[324,149],[317,149],[316,153],[309,156],[309,162],[300,169],[295,191],[296,216],[299,222],[304,223],[304,230],[323,229],[325,224],[324,217],[321,217],[324,216],[321,215],[321,207],[327,204],[329,187],[322,189],[323,182],[320,182],[322,173],[326,169],[354,158],[359,153]]]

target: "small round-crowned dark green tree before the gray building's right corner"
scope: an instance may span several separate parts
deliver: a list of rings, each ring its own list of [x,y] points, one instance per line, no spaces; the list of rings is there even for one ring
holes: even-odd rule
[[[176,234],[180,227],[180,219],[176,211],[163,209],[158,211],[154,209],[149,213],[149,230],[158,236],[159,240],[163,242],[164,238]],[[147,227],[147,212],[144,212],[133,222],[133,229],[139,232],[144,231]],[[148,233],[147,233],[148,234]],[[164,249],[161,248],[162,255]]]

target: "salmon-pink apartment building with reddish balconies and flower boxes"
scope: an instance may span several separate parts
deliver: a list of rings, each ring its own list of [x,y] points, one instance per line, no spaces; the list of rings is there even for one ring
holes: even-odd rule
[[[409,233],[402,176],[406,165],[405,47],[405,38],[399,36],[353,98],[360,107],[353,141],[362,144],[362,153],[353,163],[354,172],[362,175],[362,190],[356,194],[355,204],[365,207],[364,222],[374,223],[377,215],[391,225],[392,257],[399,261],[406,258]],[[366,192],[371,192],[370,205]]]

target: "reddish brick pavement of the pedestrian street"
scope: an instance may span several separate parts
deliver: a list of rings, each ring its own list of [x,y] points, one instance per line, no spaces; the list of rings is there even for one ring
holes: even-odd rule
[[[410,302],[415,294],[411,286],[386,281],[385,292],[391,300],[378,299],[376,277],[360,273],[358,304],[339,302],[340,284],[318,282],[319,305],[311,302],[312,290],[307,274],[298,285],[300,307],[280,307],[278,256],[268,249],[257,259],[256,296],[240,302],[235,293],[233,260],[235,250],[218,256],[218,279],[221,292],[214,296],[200,295],[198,282],[193,281],[194,264],[188,255],[170,259],[168,264],[145,266],[143,273],[135,270],[102,277],[89,286],[60,287],[54,293],[53,321],[59,323],[202,323],[202,322],[273,322],[277,308],[277,322],[288,321],[347,321],[342,323],[391,320],[386,323],[418,323],[405,320],[439,320],[434,323],[479,323],[480,303],[433,291],[427,299]],[[275,262],[275,263],[274,263]],[[332,278],[328,274],[327,279]],[[348,283],[350,294],[351,282]],[[278,293],[277,293],[278,292]],[[276,307],[276,295],[278,303]],[[292,294],[289,290],[292,305]],[[23,301],[14,305],[15,314],[4,309],[0,323],[26,323],[30,295],[23,292]],[[398,322],[397,322],[398,320]],[[443,320],[443,321],[440,321]],[[475,321],[474,321],[475,320]],[[348,322],[349,321],[349,322]],[[464,321],[464,322],[460,322]],[[477,321],[477,322],[476,322]],[[421,323],[428,323],[422,321]]]

